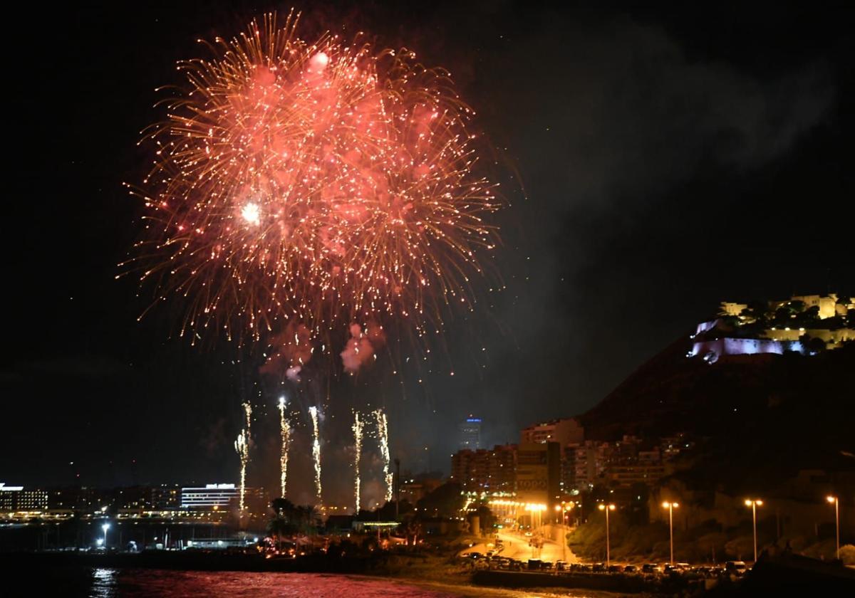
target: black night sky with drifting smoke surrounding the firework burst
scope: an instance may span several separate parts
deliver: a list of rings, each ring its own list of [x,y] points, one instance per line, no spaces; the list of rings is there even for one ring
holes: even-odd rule
[[[234,480],[247,395],[258,421],[251,483],[273,484],[275,396],[252,387],[257,375],[233,364],[232,345],[200,350],[171,335],[180,305],[138,323],[146,290],[138,298],[133,279],[114,279],[139,232],[139,203],[121,183],[145,173],[136,142],[156,119],[154,88],[177,82],[174,62],[198,56],[196,38],[288,7],[175,4],[7,20],[8,484]],[[359,4],[301,8],[310,26],[347,22],[448,67],[506,156],[511,203],[498,218],[507,290],[449,322],[443,350],[456,375],[408,375],[405,398],[398,380],[372,402],[389,410],[405,469],[447,469],[470,412],[484,418],[486,443],[501,443],[535,419],[592,407],[722,299],[852,292],[846,3]],[[374,378],[333,395],[363,401]],[[331,472],[349,442],[333,429]],[[329,501],[345,500],[340,480],[329,487]]]

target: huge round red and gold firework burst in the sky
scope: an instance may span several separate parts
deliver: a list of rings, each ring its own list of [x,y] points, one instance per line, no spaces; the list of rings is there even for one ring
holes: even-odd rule
[[[409,50],[307,42],[298,18],[266,15],[179,63],[185,84],[140,142],[156,157],[131,190],[145,235],[123,266],[184,298],[194,338],[296,320],[323,340],[386,317],[439,331],[447,306],[472,309],[497,237],[474,113]]]

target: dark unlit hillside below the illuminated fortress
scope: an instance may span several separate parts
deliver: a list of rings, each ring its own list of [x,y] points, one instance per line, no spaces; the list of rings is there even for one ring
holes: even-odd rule
[[[731,487],[799,469],[855,471],[855,343],[812,357],[687,359],[683,337],[581,416],[586,437],[705,438],[693,469]]]

